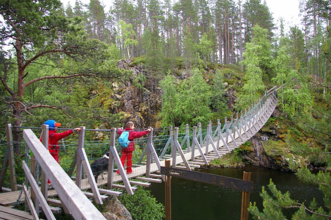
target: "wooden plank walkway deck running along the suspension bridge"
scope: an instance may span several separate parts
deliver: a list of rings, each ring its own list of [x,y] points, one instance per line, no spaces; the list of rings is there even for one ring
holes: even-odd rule
[[[253,120],[254,123],[251,123],[253,121],[248,121],[248,123],[246,123],[245,129],[240,129],[240,131],[241,131],[240,135],[238,134],[238,132],[236,132],[234,137],[233,137],[233,133],[228,134],[228,141],[227,141],[228,148],[225,148],[224,143],[222,141],[219,141],[218,153],[220,154],[220,156],[222,156],[226,153],[229,153],[227,151],[227,149],[229,149],[229,151],[231,152],[232,150],[234,150],[236,148],[236,146],[239,147],[244,142],[248,141],[251,137],[253,137],[267,122],[267,120],[271,116],[272,112],[274,111],[277,103],[278,103],[278,100],[276,99],[276,96],[271,94],[271,96],[269,96],[269,98],[266,99],[264,104],[261,105],[259,107],[259,109],[257,109],[258,112],[256,112],[256,114],[253,114],[252,118],[255,119],[255,120]],[[230,135],[232,135],[233,139],[235,140],[235,143],[233,142]],[[226,139],[226,134],[222,133],[222,137],[224,139]],[[213,143],[216,146],[217,136],[213,139]],[[206,152],[206,146],[201,146],[201,150],[202,150],[202,152]],[[198,164],[198,165],[205,164],[204,160],[202,159],[202,155],[197,150],[197,148],[195,149],[195,152],[194,152],[194,161],[190,161],[191,152],[188,153],[186,150],[183,150],[183,152],[184,152],[184,157],[186,158],[187,161],[190,162],[190,164]],[[207,161],[212,161],[213,159],[218,158],[216,156],[216,153],[214,152],[214,149],[213,149],[211,143],[208,146],[208,154],[205,156],[206,156]],[[168,158],[164,158],[164,159],[168,159]],[[164,159],[160,161],[161,166],[165,166]],[[172,158],[169,158],[169,159],[170,159],[170,164],[172,164]],[[177,154],[176,165],[182,164],[182,163],[183,163],[182,157]],[[194,167],[194,165],[193,165],[193,167]],[[185,167],[182,167],[182,168],[185,168]],[[144,176],[146,174],[146,165],[134,167],[134,168],[132,168],[132,171],[133,172],[131,174],[127,174],[128,179],[134,179],[139,176]],[[159,171],[157,164],[155,162],[151,163],[150,164],[150,173],[155,173],[157,171]],[[101,175],[99,176],[99,179],[98,179],[99,182],[97,183],[98,187],[107,185],[107,174],[105,174],[104,176],[105,176],[105,179],[102,179]],[[113,182],[116,183],[116,182],[121,182],[121,181],[122,181],[121,176],[114,173]],[[137,181],[137,180],[135,180],[135,181]],[[134,184],[132,184],[132,182],[131,182],[131,185],[134,185]],[[82,190],[91,189],[91,186],[90,186],[87,178],[82,179],[81,189]],[[15,204],[19,197],[19,194],[20,194],[20,191],[0,193],[0,205],[10,206],[10,205]],[[56,196],[57,196],[57,192],[55,190],[48,191],[48,197],[56,197]],[[24,193],[21,196],[21,201],[24,201]]]

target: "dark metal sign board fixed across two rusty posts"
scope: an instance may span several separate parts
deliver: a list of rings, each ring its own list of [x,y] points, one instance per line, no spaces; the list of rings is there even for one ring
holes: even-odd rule
[[[216,186],[223,186],[235,190],[253,193],[253,182],[251,181],[164,166],[161,166],[160,173],[161,175],[179,177],[187,180],[209,183]]]

